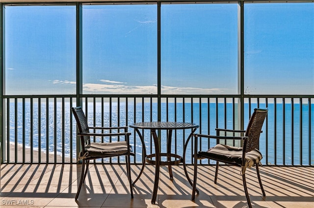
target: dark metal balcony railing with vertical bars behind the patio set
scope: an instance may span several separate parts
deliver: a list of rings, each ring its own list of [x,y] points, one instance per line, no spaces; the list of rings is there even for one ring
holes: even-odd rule
[[[268,108],[260,138],[265,165],[314,165],[314,97],[246,95],[75,95],[14,96],[3,98],[2,159],[4,163],[76,163],[79,146],[70,108],[81,103],[92,126],[125,126],[141,121],[182,121],[200,125],[197,133],[215,135],[215,128],[246,127],[254,108]],[[243,109],[241,115],[240,109]],[[243,121],[241,121],[243,118]],[[132,163],[142,162],[142,144],[131,132]],[[148,154],[154,151],[149,131],[143,131]],[[182,155],[189,130],[173,133],[172,151]],[[165,148],[165,132],[160,132]],[[96,138],[95,141],[98,141]],[[117,140],[117,138],[110,138]],[[220,141],[230,143],[231,141]],[[189,141],[186,163],[192,163]],[[216,143],[202,140],[200,148]],[[236,144],[235,144],[236,145]],[[238,144],[240,145],[240,144]],[[48,153],[48,154],[47,154]],[[123,163],[124,158],[96,161]],[[211,161],[202,161],[210,164]]]

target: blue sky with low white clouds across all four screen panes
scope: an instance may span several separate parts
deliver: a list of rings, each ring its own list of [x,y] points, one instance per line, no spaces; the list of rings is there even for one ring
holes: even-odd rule
[[[314,93],[314,3],[245,5],[245,88]],[[164,94],[237,93],[237,4],[162,4]],[[75,93],[75,6],[6,6],[7,94]],[[157,5],[83,6],[84,93],[157,93]]]

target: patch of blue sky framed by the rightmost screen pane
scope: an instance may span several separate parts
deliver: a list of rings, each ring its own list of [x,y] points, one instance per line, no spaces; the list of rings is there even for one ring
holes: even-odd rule
[[[265,93],[314,93],[314,4],[293,5],[249,4],[245,10],[251,17],[245,22],[245,76],[251,78],[245,86],[253,93],[250,86]]]

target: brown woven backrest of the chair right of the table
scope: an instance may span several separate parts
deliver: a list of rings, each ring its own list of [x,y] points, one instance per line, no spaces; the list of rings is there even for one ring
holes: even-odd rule
[[[243,144],[243,152],[247,153],[258,148],[262,126],[267,116],[267,112],[268,109],[254,109],[245,132],[245,136],[249,139]]]

